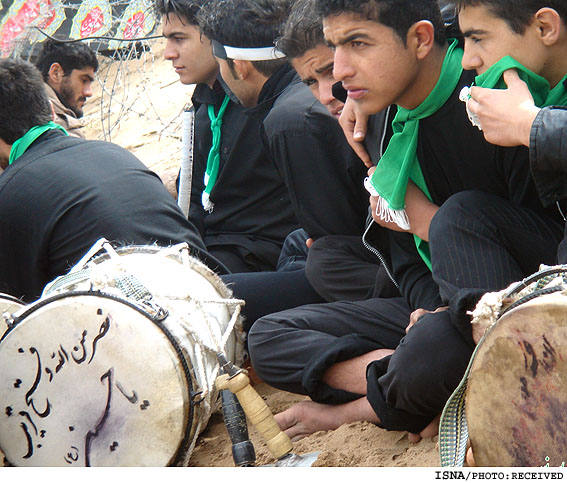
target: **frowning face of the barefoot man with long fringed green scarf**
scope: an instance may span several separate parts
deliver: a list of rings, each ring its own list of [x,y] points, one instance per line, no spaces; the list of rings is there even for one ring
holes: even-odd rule
[[[393,29],[344,13],[325,18],[323,30],[335,50],[334,77],[361,112],[375,114],[391,104],[413,109],[419,104],[418,61]]]

